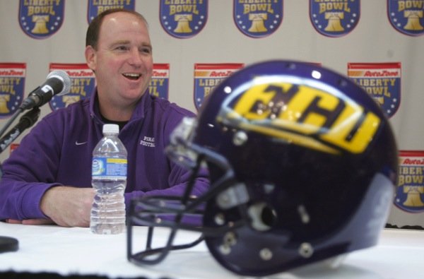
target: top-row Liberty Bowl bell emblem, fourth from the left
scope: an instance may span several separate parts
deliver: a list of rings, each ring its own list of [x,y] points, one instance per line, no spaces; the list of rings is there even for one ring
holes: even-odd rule
[[[275,32],[283,20],[283,0],[234,0],[233,18],[237,28],[254,38]]]

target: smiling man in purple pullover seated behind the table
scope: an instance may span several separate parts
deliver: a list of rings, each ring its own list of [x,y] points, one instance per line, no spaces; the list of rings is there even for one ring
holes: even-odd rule
[[[126,208],[144,194],[181,195],[189,171],[169,160],[164,148],[187,109],[152,97],[146,90],[153,72],[148,24],[139,13],[107,10],[86,35],[86,61],[97,90],[44,117],[4,162],[0,220],[88,227],[94,190],[91,160],[102,126],[119,124],[128,151]],[[194,195],[208,188],[199,175]]]

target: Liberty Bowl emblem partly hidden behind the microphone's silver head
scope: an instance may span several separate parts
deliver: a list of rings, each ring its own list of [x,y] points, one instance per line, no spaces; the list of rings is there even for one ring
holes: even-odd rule
[[[54,95],[49,102],[50,109],[57,110],[79,100],[90,99],[95,90],[95,76],[87,64],[50,64],[50,71],[66,71],[71,78],[71,89],[68,94]]]

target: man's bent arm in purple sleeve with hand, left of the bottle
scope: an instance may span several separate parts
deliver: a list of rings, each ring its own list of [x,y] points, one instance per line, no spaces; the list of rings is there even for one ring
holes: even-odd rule
[[[61,159],[64,156],[60,155],[64,138],[69,136],[52,127],[63,127],[61,122],[65,120],[55,118],[57,123],[52,124],[52,119],[46,121],[46,118],[23,138],[20,146],[4,162],[4,175],[0,181],[0,220],[87,227],[93,189],[65,187],[57,182],[57,174],[64,173],[59,170],[61,160],[69,160]],[[74,167],[77,171],[83,165],[83,158],[78,158],[78,165]]]

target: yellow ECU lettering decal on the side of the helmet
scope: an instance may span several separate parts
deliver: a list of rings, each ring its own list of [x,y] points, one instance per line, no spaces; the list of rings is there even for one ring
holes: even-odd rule
[[[363,153],[381,119],[343,93],[310,85],[249,86],[221,107],[218,121],[326,153]]]

